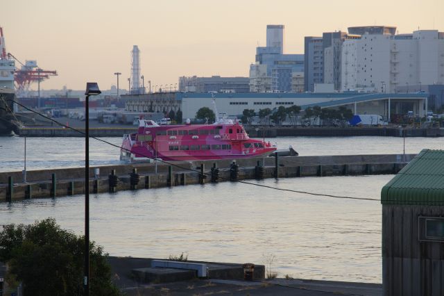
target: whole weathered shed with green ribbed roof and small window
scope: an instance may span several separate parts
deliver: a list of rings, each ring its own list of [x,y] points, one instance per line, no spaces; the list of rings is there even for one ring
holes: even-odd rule
[[[444,295],[444,150],[422,150],[381,203],[384,295]]]

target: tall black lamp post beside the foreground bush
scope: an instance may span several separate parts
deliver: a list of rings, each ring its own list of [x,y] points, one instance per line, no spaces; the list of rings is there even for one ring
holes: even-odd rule
[[[85,270],[83,285],[89,295],[89,96],[101,94],[96,82],[87,82],[85,91]]]

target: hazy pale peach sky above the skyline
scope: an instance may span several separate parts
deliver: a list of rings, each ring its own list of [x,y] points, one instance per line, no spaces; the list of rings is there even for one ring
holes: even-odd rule
[[[145,81],[174,85],[182,75],[248,76],[267,24],[284,24],[284,53],[303,54],[304,36],[348,26],[444,31],[443,11],[444,0],[14,0],[3,1],[0,26],[7,51],[58,71],[43,89],[81,90],[109,89],[114,72],[128,88],[134,44]]]

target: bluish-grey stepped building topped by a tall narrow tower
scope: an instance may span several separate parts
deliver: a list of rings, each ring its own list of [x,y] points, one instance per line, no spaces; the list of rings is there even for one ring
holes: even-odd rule
[[[255,63],[250,65],[251,92],[294,92],[293,76],[304,72],[303,54],[283,54],[284,26],[266,27],[266,47],[256,47]]]

